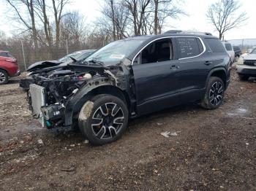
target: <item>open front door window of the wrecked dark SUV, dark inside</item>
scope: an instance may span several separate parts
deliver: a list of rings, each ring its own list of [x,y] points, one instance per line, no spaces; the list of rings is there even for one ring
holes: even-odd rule
[[[140,54],[142,64],[170,61],[173,59],[173,44],[170,39],[160,39],[148,44]]]

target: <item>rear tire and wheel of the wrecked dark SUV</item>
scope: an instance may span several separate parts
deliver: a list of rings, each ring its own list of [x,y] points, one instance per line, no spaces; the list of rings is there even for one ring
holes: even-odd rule
[[[222,104],[224,90],[225,87],[222,79],[210,77],[201,106],[205,109],[217,109]]]

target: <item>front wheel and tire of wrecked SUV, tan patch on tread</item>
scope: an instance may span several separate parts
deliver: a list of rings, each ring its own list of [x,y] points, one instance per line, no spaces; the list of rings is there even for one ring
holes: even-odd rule
[[[91,144],[109,144],[124,133],[128,117],[129,112],[124,101],[113,95],[101,94],[83,105],[78,126]]]

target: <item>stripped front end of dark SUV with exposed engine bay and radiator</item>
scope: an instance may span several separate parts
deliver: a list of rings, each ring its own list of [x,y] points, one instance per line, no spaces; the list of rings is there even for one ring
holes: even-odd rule
[[[42,69],[30,77],[28,99],[33,116],[41,118],[39,121],[47,128],[70,125],[73,107],[90,90],[101,84],[127,88],[124,69],[127,68],[74,64]]]

